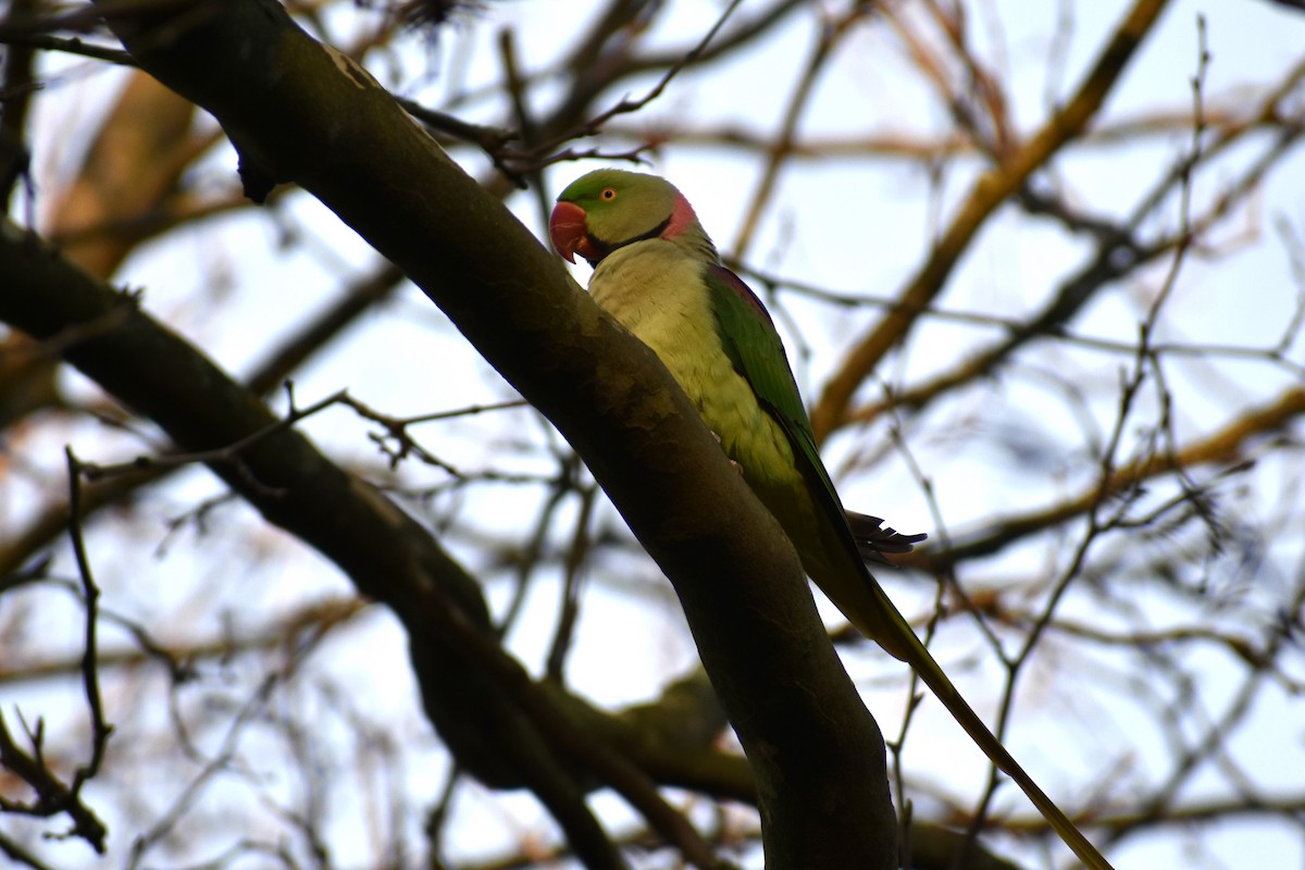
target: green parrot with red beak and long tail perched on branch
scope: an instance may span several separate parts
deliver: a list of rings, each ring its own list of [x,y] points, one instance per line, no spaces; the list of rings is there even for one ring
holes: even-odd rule
[[[962,698],[874,579],[868,561],[890,565],[886,554],[908,552],[925,536],[843,507],[770,314],[722,263],[684,194],[659,176],[596,170],[561,192],[548,231],[566,261],[579,254],[589,262],[592,300],[662,360],[810,579],[860,633],[920,676],[1083,863],[1109,870]]]

